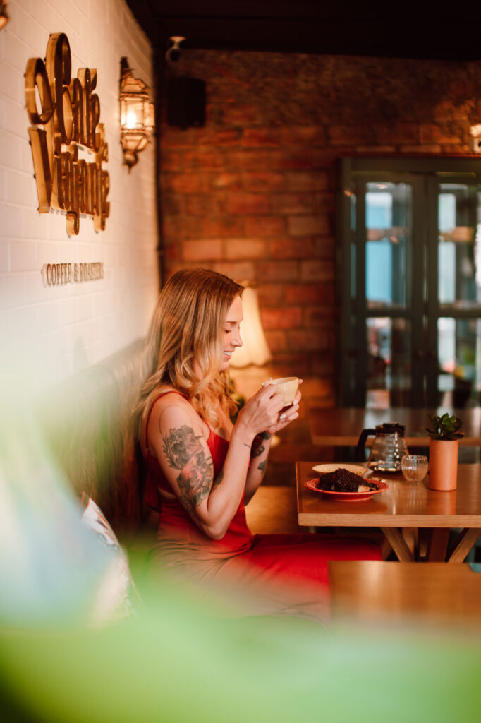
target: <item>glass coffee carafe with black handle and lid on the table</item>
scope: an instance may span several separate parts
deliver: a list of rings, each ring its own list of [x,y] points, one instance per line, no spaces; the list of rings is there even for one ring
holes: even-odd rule
[[[369,469],[376,472],[398,472],[401,459],[408,454],[404,441],[404,424],[385,422],[378,424],[376,429],[363,429],[358,441],[358,459],[364,458],[365,442],[370,435],[374,436],[373,446],[366,462]]]

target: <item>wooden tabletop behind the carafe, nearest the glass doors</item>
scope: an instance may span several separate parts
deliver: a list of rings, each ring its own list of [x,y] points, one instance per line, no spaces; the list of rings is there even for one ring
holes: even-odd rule
[[[430,427],[428,414],[456,414],[463,420],[464,437],[460,445],[467,447],[481,445],[481,407],[452,409],[423,409],[417,407],[390,407],[389,409],[368,409],[363,407],[325,408],[314,403],[308,406],[309,427],[314,445],[351,447],[358,444],[363,429],[374,429],[383,422],[398,422],[406,427],[404,439],[407,447],[428,447],[429,437],[421,427]],[[368,438],[372,445],[373,437]]]

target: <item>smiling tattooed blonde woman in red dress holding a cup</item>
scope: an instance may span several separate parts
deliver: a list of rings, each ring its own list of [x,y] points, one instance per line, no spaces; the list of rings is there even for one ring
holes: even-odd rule
[[[252,535],[244,505],[261,484],[272,435],[298,417],[268,382],[241,408],[228,367],[242,345],[242,286],[209,270],[175,273],[147,335],[139,437],[146,502],[159,510],[152,561],[215,593],[226,615],[295,614],[326,620],[329,560],[381,559],[375,544],[298,534]]]

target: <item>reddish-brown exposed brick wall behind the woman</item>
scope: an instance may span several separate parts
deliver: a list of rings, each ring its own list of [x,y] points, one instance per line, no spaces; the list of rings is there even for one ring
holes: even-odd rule
[[[165,275],[256,283],[274,362],[334,380],[336,161],[469,153],[481,64],[185,51],[175,74],[206,82],[207,122],[162,127]]]

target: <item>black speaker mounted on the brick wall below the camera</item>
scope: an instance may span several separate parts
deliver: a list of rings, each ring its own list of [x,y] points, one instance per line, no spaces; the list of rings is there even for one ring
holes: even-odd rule
[[[167,122],[175,128],[205,125],[205,83],[182,75],[170,78],[167,87]]]

